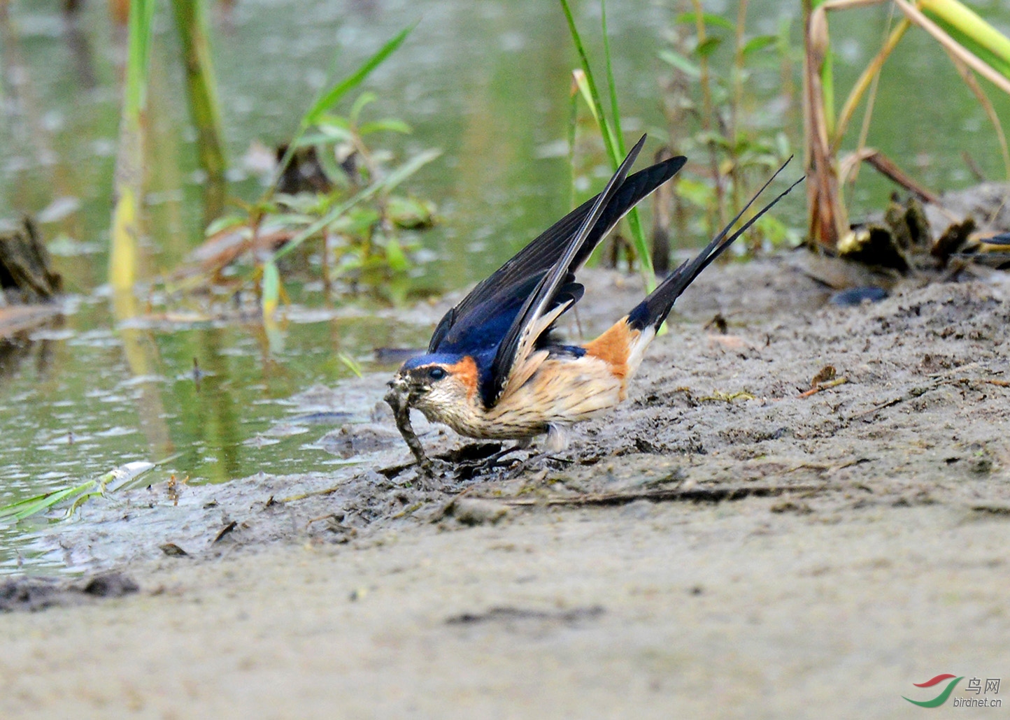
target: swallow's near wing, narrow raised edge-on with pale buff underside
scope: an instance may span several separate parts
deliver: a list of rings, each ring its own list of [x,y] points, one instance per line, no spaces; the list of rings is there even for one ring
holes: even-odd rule
[[[516,373],[517,377],[520,375],[527,377],[526,370],[528,369],[524,369],[523,364],[532,355],[536,348],[537,339],[550,328],[550,325],[562,313],[582,296],[582,286],[574,282],[573,264],[586,245],[587,239],[592,234],[597,221],[607,209],[614,194],[624,183],[628,170],[634,164],[635,158],[638,157],[644,143],[645,136],[642,135],[641,139],[628,152],[624,162],[621,163],[617,172],[614,173],[610,182],[607,183],[603,192],[596,196],[596,201],[589,213],[583,218],[578,232],[569,240],[565,252],[536,284],[536,288],[526,298],[516,314],[508,332],[498,345],[494,362],[491,365],[490,404],[493,405],[507,392],[509,384],[513,380],[514,371],[519,371]]]

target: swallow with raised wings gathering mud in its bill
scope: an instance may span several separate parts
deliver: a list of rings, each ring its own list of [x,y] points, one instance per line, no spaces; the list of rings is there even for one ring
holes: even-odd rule
[[[511,449],[544,434],[548,450],[564,449],[574,424],[599,417],[627,397],[645,348],[685,289],[803,180],[730,233],[783,165],[697,256],[602,335],[583,344],[561,342],[551,332],[554,323],[583,296],[576,273],[614,225],[687,162],[672,158],[628,176],[644,142],[642,135],[603,192],[551,225],[445,313],[427,352],[397,371],[386,400],[422,467],[430,461],[410,427],[410,408],[461,435],[518,441]]]

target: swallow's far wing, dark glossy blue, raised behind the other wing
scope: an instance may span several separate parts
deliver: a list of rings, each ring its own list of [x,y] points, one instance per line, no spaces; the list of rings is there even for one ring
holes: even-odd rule
[[[642,198],[674,177],[686,162],[683,157],[672,158],[620,183],[591,226],[589,234],[576,248],[569,263],[569,273],[574,274],[581,268],[613,226]],[[497,346],[525,300],[568,250],[600,197],[597,195],[586,201],[556,222],[478,284],[442,317],[431,335],[428,352],[472,352]],[[574,275],[567,282],[566,290],[573,302],[577,302],[582,296],[582,286],[572,283],[572,280]]]

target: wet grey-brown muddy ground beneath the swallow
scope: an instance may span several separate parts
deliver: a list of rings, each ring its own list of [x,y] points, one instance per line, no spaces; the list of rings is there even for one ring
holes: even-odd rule
[[[377,375],[300,398],[357,465],[89,504],[45,541],[120,575],[0,585],[48,607],[0,614],[0,717],[890,718],[1010,675],[1010,275],[838,307],[795,258],[707,271],[554,458],[420,484]],[[641,291],[588,280],[590,335]]]

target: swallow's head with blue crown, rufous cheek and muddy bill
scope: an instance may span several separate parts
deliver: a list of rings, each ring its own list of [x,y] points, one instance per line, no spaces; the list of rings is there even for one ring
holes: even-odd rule
[[[403,364],[390,387],[429,419],[473,402],[477,393],[477,363],[470,355],[426,354]]]

